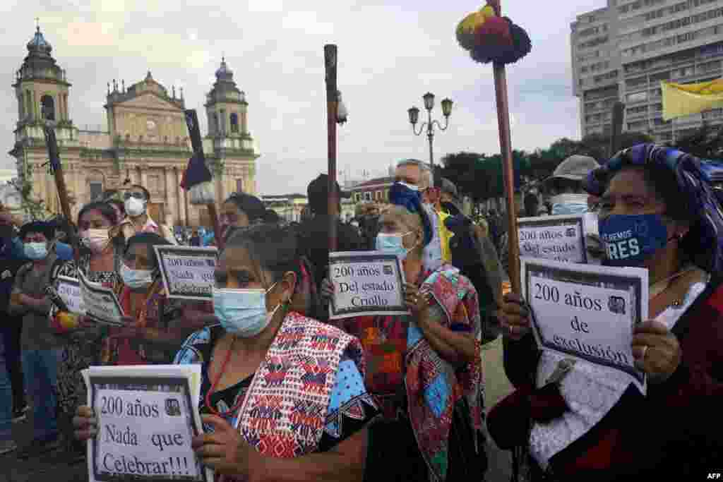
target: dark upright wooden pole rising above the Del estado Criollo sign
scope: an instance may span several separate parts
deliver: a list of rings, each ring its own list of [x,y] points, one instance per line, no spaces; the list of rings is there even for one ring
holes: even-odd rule
[[[338,218],[338,192],[336,191],[336,114],[338,109],[338,90],[336,86],[337,48],[324,46],[324,65],[326,70],[326,125],[328,152],[328,213],[329,213],[329,251],[336,251],[336,225]]]

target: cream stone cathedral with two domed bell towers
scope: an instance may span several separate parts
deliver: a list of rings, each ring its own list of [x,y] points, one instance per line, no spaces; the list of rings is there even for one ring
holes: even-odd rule
[[[158,223],[212,225],[208,210],[189,203],[179,184],[191,157],[183,90],[176,95],[150,72],[126,88],[108,85],[107,131],[78,129],[69,110],[66,72],[51,56],[52,47],[40,27],[12,85],[17,97],[15,145],[17,172],[33,186],[33,199],[43,199],[51,213],[60,213],[54,176],[48,171],[43,124],[55,127],[72,215],[87,202],[108,192],[140,184],[150,191],[149,214]],[[208,134],[203,150],[213,173],[217,202],[234,191],[256,194],[255,161],[259,153],[249,134],[244,92],[236,87],[226,60],[215,72],[206,95]]]

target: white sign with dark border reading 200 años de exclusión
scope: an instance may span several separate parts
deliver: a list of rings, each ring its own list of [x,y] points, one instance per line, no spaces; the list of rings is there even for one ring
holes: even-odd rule
[[[624,371],[646,393],[633,328],[648,317],[648,270],[522,258],[522,294],[542,350]]]

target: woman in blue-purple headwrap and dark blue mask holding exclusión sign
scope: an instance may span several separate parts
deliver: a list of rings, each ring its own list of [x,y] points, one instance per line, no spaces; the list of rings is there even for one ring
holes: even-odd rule
[[[693,480],[723,460],[723,213],[700,166],[638,145],[588,179],[601,197],[605,264],[649,270],[650,319],[632,341],[645,397],[622,372],[583,361],[562,369],[562,356],[537,350],[520,298],[505,299],[505,371],[518,390],[488,426],[498,444],[523,447],[533,480]],[[615,249],[620,233],[640,249]]]

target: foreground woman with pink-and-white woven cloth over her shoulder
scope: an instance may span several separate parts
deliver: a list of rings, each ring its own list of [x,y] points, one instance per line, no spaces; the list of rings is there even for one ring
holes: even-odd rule
[[[216,269],[221,326],[196,332],[176,356],[202,366],[207,433],[193,445],[226,481],[361,481],[366,426],[377,414],[361,345],[290,311],[299,277],[292,231],[239,231]],[[97,434],[92,415],[79,408],[79,438]]]

